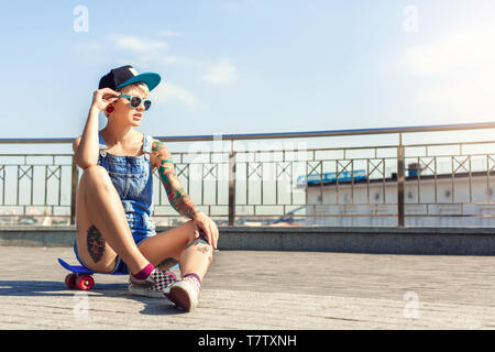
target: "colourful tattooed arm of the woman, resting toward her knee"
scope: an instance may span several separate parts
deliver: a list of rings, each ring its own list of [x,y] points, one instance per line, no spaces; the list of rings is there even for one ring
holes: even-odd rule
[[[174,161],[172,160],[170,152],[168,152],[163,142],[156,140],[153,140],[152,151],[160,161],[160,179],[165,187],[172,207],[182,216],[194,219],[199,212],[199,209],[195,206],[190,197],[184,190],[184,187],[180,185],[174,169]]]

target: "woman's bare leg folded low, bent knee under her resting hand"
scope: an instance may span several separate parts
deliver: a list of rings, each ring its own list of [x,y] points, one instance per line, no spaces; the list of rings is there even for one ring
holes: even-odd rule
[[[139,249],[158,268],[170,258],[178,261],[183,277],[196,273],[202,279],[213,257],[212,246],[195,239],[193,220],[157,233],[143,241]]]

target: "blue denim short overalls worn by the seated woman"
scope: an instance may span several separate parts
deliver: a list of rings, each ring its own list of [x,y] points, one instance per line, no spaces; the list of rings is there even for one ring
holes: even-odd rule
[[[107,152],[107,145],[101,132],[98,131],[100,155],[98,165],[105,167],[113,183],[113,186],[122,200],[129,228],[134,242],[140,245],[147,238],[156,234],[156,227],[151,219],[153,201],[153,174],[150,154],[152,152],[151,135],[144,134],[143,155],[124,156]],[[76,257],[85,265],[77,255],[77,246],[74,245]],[[129,273],[125,263],[117,258],[117,265],[112,273]]]

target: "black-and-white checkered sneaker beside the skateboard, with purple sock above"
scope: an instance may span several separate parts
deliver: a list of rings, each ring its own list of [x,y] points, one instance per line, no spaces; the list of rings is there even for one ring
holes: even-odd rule
[[[129,292],[139,296],[163,297],[176,280],[174,273],[155,268],[146,279],[136,279],[129,275]]]

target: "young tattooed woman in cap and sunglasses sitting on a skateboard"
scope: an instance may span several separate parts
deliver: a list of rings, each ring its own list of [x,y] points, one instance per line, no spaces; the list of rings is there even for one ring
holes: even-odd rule
[[[129,273],[131,293],[166,296],[191,311],[219,232],[184,191],[165,144],[135,130],[160,80],[157,74],[138,74],[132,66],[114,68],[100,79],[82,135],[73,143],[76,163],[84,169],[74,250],[90,270]],[[108,124],[98,131],[101,111]],[[155,169],[172,207],[190,219],[160,233],[150,218]],[[179,280],[167,272],[177,262]]]

